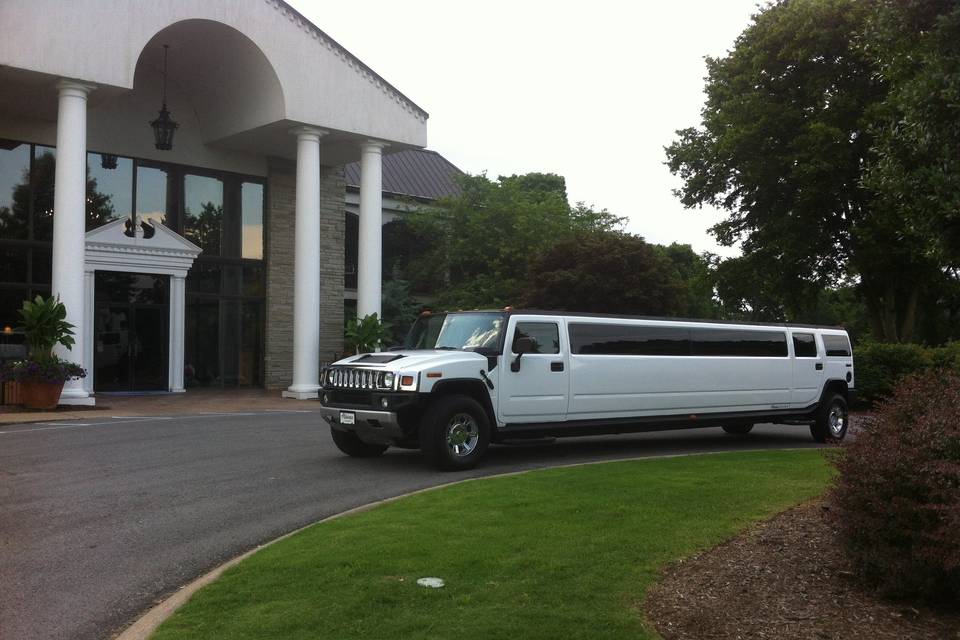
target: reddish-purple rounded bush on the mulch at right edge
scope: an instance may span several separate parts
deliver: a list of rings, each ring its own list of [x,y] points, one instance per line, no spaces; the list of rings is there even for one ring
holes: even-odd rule
[[[960,602],[960,374],[906,378],[835,464],[858,575],[887,596]]]

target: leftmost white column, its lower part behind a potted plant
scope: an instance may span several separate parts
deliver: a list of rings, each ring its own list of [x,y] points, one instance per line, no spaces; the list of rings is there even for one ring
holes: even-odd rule
[[[52,293],[67,307],[67,321],[75,326],[72,349],[57,346],[57,356],[72,362],[85,360],[87,327],[84,318],[84,232],[87,191],[87,94],[92,85],[62,80],[57,110],[57,168],[53,190]],[[60,404],[94,404],[83,380],[69,380]]]

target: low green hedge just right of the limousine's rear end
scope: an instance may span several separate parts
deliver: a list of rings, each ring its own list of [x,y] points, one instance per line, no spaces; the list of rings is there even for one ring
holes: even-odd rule
[[[872,406],[889,396],[903,378],[933,368],[960,371],[960,342],[942,347],[866,342],[853,350],[857,399]]]

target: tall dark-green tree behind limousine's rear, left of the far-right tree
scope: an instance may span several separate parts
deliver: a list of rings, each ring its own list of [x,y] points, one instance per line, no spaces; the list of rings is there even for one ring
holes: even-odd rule
[[[909,340],[932,265],[910,222],[863,184],[887,92],[861,46],[870,10],[858,0],[763,8],[727,56],[707,59],[701,126],[678,131],[667,157],[685,206],[728,211],[713,233],[742,241],[745,262],[727,275],[764,281],[764,314],[808,315],[816,291],[855,278],[874,332]]]

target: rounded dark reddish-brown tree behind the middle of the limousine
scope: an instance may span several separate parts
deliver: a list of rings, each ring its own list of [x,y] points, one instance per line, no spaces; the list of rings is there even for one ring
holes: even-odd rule
[[[522,304],[529,308],[676,316],[687,290],[660,248],[627,233],[582,231],[533,260]]]

